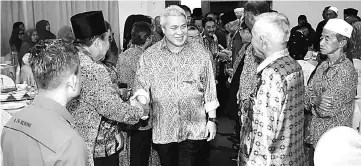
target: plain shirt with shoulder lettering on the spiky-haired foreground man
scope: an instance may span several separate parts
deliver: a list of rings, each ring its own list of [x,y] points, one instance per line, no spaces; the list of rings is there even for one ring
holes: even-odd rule
[[[1,135],[4,165],[87,166],[83,138],[69,112],[59,103],[36,96],[16,113]]]

